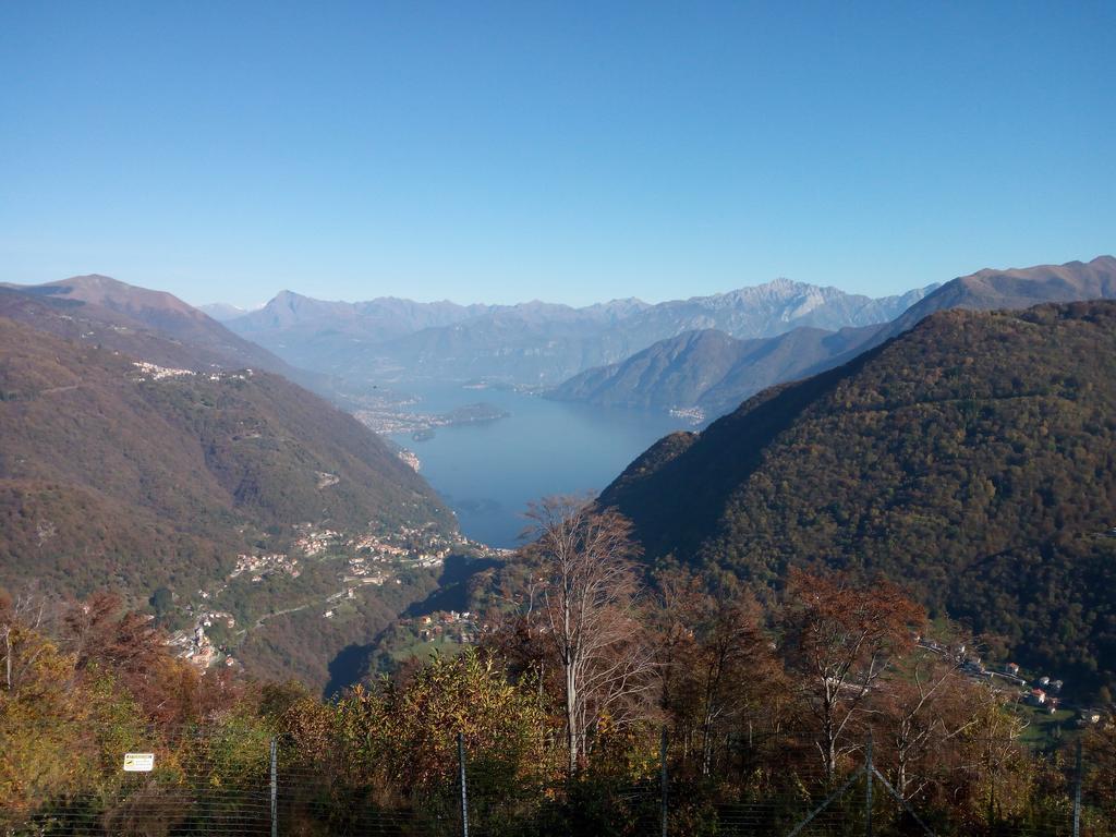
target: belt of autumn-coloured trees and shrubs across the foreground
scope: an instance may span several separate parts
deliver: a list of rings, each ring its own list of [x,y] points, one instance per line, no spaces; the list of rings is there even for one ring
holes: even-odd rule
[[[565,512],[588,516],[579,533]],[[801,574],[763,609],[731,577],[661,567],[641,594],[613,539],[624,521],[593,516],[567,508],[552,540],[536,541],[573,543],[566,564],[520,556],[519,607],[480,631],[497,642],[330,701],[201,674],[110,598],[0,600],[0,830],[77,816],[113,834],[204,830],[214,800],[258,818],[272,741],[285,833],[366,834],[403,817],[441,828],[459,816],[460,733],[479,830],[636,834],[647,798],[631,790],[657,769],[660,722],[679,837],[711,833],[722,805],[756,805],[772,828],[805,816],[863,764],[853,750],[869,730],[876,767],[939,833],[1041,834],[1065,814],[1065,761],[1028,752],[1026,712],[973,673],[970,642],[962,652],[941,625],[927,642],[894,587]],[[581,668],[568,702],[570,661]],[[1098,837],[1116,796],[1112,741],[1099,724],[1085,739],[1083,833]],[[136,744],[160,753],[142,786],[119,770]]]

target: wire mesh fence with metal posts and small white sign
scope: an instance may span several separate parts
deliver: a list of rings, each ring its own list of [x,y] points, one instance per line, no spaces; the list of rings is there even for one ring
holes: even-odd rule
[[[460,751],[440,753],[444,769],[437,781],[410,787],[386,779],[358,750],[309,748],[305,740],[252,723],[98,740],[95,763],[39,764],[28,771],[28,787],[33,790],[38,783],[49,792],[25,793],[29,801],[20,805],[0,800],[0,834],[1116,834],[1105,802],[1109,777],[1072,747],[1054,756],[1028,756],[1027,802],[1020,804],[1021,789],[1012,785],[1018,777],[978,783],[977,796],[968,800],[943,798],[951,786],[930,787],[925,777],[920,777],[917,792],[904,795],[896,789],[892,754],[883,748],[878,754],[867,742],[849,748],[833,771],[816,741],[788,733],[727,740],[712,762],[675,742],[662,748],[658,759],[625,771],[590,767],[574,778],[547,780],[518,778],[462,743]],[[1040,789],[1036,782],[1042,783]],[[973,788],[966,792],[972,796]]]

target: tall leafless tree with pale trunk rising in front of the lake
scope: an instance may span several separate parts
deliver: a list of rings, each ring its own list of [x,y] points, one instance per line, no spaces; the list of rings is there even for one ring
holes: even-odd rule
[[[528,518],[533,540],[520,552],[535,568],[535,618],[562,675],[574,773],[600,720],[636,720],[651,687],[652,657],[634,613],[639,549],[624,517],[577,498],[532,503]]]

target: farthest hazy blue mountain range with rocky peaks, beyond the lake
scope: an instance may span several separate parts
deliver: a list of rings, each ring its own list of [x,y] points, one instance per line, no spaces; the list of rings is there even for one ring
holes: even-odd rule
[[[837,329],[889,321],[930,290],[872,299],[779,279],[657,305],[620,299],[585,308],[393,298],[328,302],[283,291],[227,325],[290,364],[352,383],[485,378],[555,385],[694,329],[757,338],[797,327]]]

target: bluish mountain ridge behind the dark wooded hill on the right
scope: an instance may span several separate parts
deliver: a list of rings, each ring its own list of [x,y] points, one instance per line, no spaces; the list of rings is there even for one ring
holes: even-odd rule
[[[548,397],[600,406],[698,406],[716,416],[768,386],[838,366],[933,311],[1020,309],[1047,301],[1112,297],[1116,297],[1116,259],[1110,256],[1088,263],[982,270],[946,282],[887,324],[836,331],[797,328],[756,340],[734,339],[724,331],[687,333],[576,375]]]

